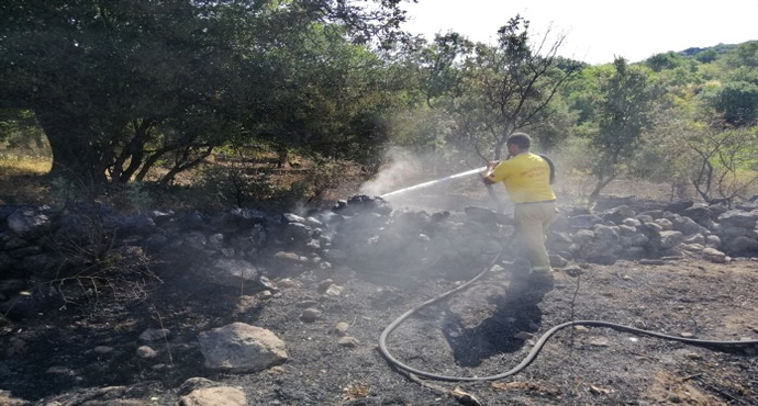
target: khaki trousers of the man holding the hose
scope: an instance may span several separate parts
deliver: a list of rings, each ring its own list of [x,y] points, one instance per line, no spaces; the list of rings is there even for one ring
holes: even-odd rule
[[[555,202],[516,204],[513,215],[516,237],[532,263],[532,271],[551,270],[550,258],[545,249],[545,238],[547,229],[557,216]]]

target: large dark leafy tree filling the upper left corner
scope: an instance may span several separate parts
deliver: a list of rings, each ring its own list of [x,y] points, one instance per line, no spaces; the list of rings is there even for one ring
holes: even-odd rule
[[[270,55],[308,46],[291,33],[324,23],[392,38],[399,1],[3,1],[0,106],[34,111],[54,174],[126,182],[165,160],[170,180],[246,134],[241,122],[276,120],[270,106],[299,83]]]

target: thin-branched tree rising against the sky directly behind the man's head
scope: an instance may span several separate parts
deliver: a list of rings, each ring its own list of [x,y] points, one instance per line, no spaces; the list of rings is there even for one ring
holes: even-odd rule
[[[484,160],[489,160],[487,149],[500,159],[514,132],[548,120],[555,113],[550,102],[558,89],[579,68],[556,56],[562,35],[550,43],[548,32],[533,45],[528,26],[516,15],[498,31],[497,45],[476,45],[466,61],[460,97],[448,108],[458,123],[453,142],[473,147]]]

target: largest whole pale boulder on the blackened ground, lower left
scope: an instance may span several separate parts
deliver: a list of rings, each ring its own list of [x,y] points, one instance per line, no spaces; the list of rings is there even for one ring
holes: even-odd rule
[[[256,372],[287,361],[285,341],[274,332],[244,323],[203,331],[199,336],[205,366],[227,372]]]

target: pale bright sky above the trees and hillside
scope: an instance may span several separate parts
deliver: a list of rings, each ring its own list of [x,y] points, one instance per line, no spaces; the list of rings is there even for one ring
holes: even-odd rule
[[[758,40],[758,0],[417,0],[404,26],[428,40],[455,31],[494,43],[498,29],[521,14],[533,41],[564,34],[558,55],[588,64],[629,63],[655,54]],[[551,44],[549,42],[548,44]]]

